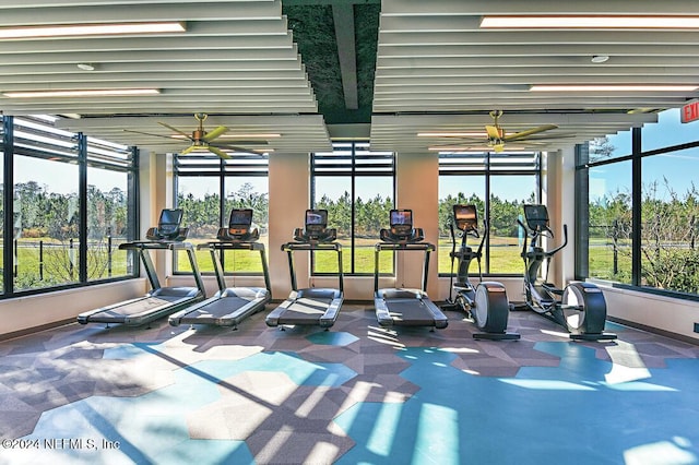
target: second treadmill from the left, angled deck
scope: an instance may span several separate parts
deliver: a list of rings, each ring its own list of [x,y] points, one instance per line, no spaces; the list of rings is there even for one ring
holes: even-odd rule
[[[238,324],[253,313],[264,310],[272,298],[270,273],[266,265],[264,245],[258,242],[260,233],[252,228],[252,210],[234,208],[230,212],[227,228],[220,228],[216,241],[200,243],[197,249],[209,249],[214,263],[214,273],[218,283],[218,291],[214,297],[188,307],[168,319],[173,326],[180,324],[211,324],[232,326]],[[250,250],[260,253],[265,287],[226,287],[225,273],[220,255],[226,250]]]

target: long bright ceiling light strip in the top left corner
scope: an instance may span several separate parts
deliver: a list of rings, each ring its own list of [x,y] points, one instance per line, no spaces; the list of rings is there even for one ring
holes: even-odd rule
[[[60,26],[0,27],[0,39],[115,34],[183,33],[185,23],[66,24]]]

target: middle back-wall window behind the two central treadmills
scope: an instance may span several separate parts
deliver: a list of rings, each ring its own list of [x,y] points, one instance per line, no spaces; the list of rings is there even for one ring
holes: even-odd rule
[[[337,229],[344,273],[374,273],[374,246],[394,205],[394,177],[393,153],[370,152],[368,143],[336,143],[333,152],[311,154],[311,204],[328,210],[328,226]],[[380,272],[393,273],[392,254],[380,260]],[[313,273],[336,273],[329,253],[313,254],[312,264]]]

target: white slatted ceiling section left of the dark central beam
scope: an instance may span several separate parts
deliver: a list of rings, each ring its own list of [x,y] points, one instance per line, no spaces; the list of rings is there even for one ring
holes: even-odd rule
[[[5,115],[69,115],[59,126],[156,151],[173,150],[170,131],[157,121],[190,132],[197,112],[210,115],[206,128],[280,133],[266,145],[275,151],[329,150],[328,130],[280,0],[0,2],[0,27],[134,21],[181,22],[186,32],[0,40],[0,94],[156,88],[158,95],[0,95],[0,109]],[[79,63],[94,70],[83,71]]]

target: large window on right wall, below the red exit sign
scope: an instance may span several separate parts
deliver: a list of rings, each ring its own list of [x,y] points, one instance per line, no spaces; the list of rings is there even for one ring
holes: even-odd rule
[[[606,138],[612,147],[605,152],[619,153],[616,158],[593,158],[591,145],[588,159],[579,147],[578,179],[588,183],[578,201],[587,219],[580,240],[589,242],[577,262],[579,277],[699,294],[697,134],[696,123],[682,124],[672,109],[633,130],[626,156],[613,146],[615,136]]]

